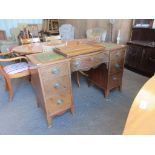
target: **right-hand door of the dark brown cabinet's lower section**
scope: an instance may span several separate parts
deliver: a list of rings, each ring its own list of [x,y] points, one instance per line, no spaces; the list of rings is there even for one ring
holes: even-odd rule
[[[155,48],[144,49],[141,66],[147,73],[155,72]]]

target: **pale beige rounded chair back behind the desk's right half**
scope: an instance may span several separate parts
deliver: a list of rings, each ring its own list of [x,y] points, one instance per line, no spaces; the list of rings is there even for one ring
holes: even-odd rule
[[[98,42],[106,41],[107,31],[101,28],[92,28],[86,31],[86,36],[88,39],[92,39]]]

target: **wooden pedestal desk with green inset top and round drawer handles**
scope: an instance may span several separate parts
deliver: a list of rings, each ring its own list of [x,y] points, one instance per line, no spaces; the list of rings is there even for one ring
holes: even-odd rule
[[[76,46],[77,50],[75,42],[69,42],[68,46]],[[48,126],[51,126],[55,115],[68,109],[73,112],[71,72],[86,71],[89,81],[102,88],[105,96],[112,88],[121,88],[125,46],[108,43],[100,47],[91,46],[90,52],[86,50],[84,54],[81,50],[82,54],[69,54],[68,58],[56,53],[51,55],[50,52],[27,56],[32,66],[32,85],[38,106],[45,111]],[[62,53],[64,48],[55,49],[55,52]]]

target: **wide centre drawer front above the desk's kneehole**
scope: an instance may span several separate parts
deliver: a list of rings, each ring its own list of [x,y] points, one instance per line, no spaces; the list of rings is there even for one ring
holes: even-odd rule
[[[102,52],[92,55],[83,55],[71,60],[71,70],[89,70],[92,67],[98,66],[103,62],[108,62],[109,52]]]

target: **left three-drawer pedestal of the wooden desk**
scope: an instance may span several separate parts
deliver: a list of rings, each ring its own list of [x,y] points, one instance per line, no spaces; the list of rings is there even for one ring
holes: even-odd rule
[[[31,67],[31,83],[37,105],[43,109],[48,127],[54,116],[67,110],[73,112],[70,59]]]

